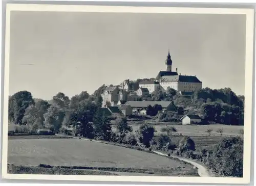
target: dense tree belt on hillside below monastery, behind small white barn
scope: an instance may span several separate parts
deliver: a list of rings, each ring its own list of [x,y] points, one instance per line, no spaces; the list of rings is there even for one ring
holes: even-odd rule
[[[216,122],[228,125],[244,125],[244,96],[237,96],[230,88],[204,88],[190,96],[182,96],[176,90],[158,89],[143,100],[173,101],[174,105],[162,111],[160,105],[148,106],[147,113],[158,116],[160,121],[179,121],[182,116],[199,115],[203,122]]]

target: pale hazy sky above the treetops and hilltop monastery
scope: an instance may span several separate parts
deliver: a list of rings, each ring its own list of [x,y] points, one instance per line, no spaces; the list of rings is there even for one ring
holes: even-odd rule
[[[244,94],[245,16],[12,12],[10,95],[51,99],[173,70]]]

